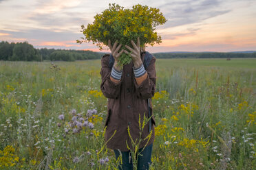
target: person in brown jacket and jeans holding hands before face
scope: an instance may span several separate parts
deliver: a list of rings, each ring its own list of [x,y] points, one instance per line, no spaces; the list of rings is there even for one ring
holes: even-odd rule
[[[130,52],[125,49],[120,51],[122,45],[118,45],[116,40],[112,46],[109,40],[111,54],[105,54],[101,59],[100,89],[108,98],[105,142],[109,149],[114,150],[116,159],[121,154],[122,162],[118,167],[124,170],[133,169],[131,138],[136,142],[141,138],[142,141],[138,144],[138,152],[141,152],[138,155],[138,169],[149,169],[156,125],[151,104],[156,88],[156,58],[145,49],[142,51],[139,38],[137,45],[133,40],[131,45],[133,48],[125,45]],[[132,62],[124,66],[118,65],[117,61],[122,53],[129,53]],[[140,136],[139,115],[142,124],[144,114],[148,118],[152,117]],[[149,139],[147,136],[150,133]]]

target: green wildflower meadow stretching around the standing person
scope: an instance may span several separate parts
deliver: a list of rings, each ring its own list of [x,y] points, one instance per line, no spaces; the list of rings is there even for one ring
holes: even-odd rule
[[[158,59],[150,169],[256,167],[256,60]],[[0,169],[116,169],[100,60],[0,61]]]

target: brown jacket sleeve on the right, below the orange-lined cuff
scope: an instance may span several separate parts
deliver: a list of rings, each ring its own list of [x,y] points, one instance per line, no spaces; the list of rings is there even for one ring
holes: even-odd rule
[[[147,77],[140,85],[134,80],[136,95],[141,99],[149,99],[153,97],[156,89],[156,68],[155,68],[156,58],[152,57],[149,66],[146,69]],[[136,78],[134,78],[136,79]]]

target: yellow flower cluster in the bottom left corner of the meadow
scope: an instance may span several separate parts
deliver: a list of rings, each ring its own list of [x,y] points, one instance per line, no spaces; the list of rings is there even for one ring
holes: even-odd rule
[[[7,145],[3,151],[0,150],[0,167],[13,167],[19,162],[19,157],[14,154],[15,149]]]

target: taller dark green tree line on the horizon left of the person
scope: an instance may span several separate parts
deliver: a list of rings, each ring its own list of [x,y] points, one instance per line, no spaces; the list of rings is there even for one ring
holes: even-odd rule
[[[102,55],[93,51],[67,49],[34,49],[28,42],[0,42],[0,60],[9,61],[75,61],[100,59]]]

